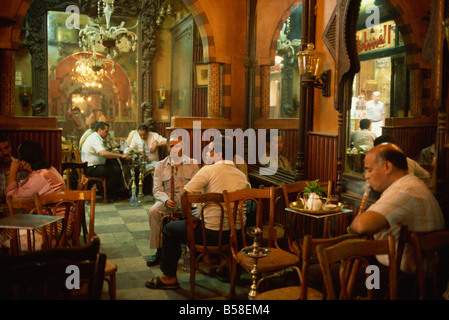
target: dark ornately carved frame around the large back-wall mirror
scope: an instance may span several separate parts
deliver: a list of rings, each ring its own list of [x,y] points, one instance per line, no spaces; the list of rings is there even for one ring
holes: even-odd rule
[[[156,53],[156,18],[164,0],[116,0],[114,13],[120,16],[134,17],[138,21],[137,37],[137,114],[138,123],[153,123],[152,111],[152,70]],[[32,115],[48,116],[48,48],[47,14],[48,11],[65,11],[67,6],[76,5],[80,13],[97,15],[97,2],[75,0],[61,3],[58,0],[35,0],[28,8],[26,19],[27,44],[31,55],[32,72]]]

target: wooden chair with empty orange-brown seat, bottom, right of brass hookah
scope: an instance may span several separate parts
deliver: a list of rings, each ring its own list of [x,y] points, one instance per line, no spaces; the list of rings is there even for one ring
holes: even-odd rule
[[[348,239],[355,239],[358,237],[359,236],[356,234],[345,234],[335,238],[312,239],[310,235],[306,235],[301,246],[303,248],[301,268],[294,266],[291,267],[291,269],[289,268],[281,271],[280,273],[269,275],[265,278],[260,279],[257,283],[258,294],[256,296],[256,300],[323,300],[325,295],[323,295],[321,291],[309,288],[308,286],[309,267],[317,262],[317,246],[321,245],[327,248],[339,242]],[[267,286],[265,284],[267,281],[270,281],[275,277],[282,278],[284,277],[284,273],[290,270],[293,270],[298,274],[298,285],[268,289],[264,292],[259,293],[262,287]]]

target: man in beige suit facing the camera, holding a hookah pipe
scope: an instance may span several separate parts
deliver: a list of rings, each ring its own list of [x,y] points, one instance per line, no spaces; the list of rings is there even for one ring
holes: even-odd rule
[[[174,163],[170,155],[156,165],[154,170],[153,196],[155,204],[150,208],[150,249],[157,249],[156,254],[147,260],[149,267],[160,262],[160,229],[163,216],[170,214],[170,210],[181,208],[181,192],[184,186],[198,172],[199,166],[196,160],[182,154],[181,137],[172,136],[168,143],[168,152],[178,152],[181,161]],[[171,186],[173,169],[173,189]],[[173,193],[173,195],[172,195]]]

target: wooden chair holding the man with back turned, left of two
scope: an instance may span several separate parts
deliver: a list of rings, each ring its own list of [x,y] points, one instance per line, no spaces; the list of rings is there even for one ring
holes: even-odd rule
[[[192,206],[196,204],[198,216],[192,216]],[[221,193],[192,194],[183,192],[181,205],[187,223],[188,240],[190,250],[190,293],[195,297],[195,273],[199,269],[199,262],[207,255],[219,255],[222,261],[227,261],[229,251],[229,232],[223,234],[223,222],[225,218],[224,200]],[[204,210],[210,207],[218,207],[221,211],[218,242],[207,239],[204,225]],[[196,231],[195,231],[196,227]],[[198,234],[200,233],[200,235]]]

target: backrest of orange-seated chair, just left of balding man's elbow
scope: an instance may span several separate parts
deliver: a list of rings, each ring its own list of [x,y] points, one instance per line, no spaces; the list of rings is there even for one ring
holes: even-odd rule
[[[321,246],[327,248],[349,239],[357,239],[360,236],[354,233],[345,234],[334,238],[312,238],[311,235],[304,236],[302,242],[302,262],[301,262],[301,287],[300,287],[300,299],[307,300],[307,288],[309,278],[309,267],[314,264],[313,258],[316,259],[317,247]]]

